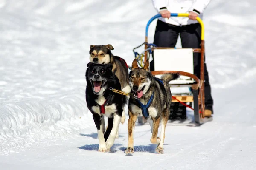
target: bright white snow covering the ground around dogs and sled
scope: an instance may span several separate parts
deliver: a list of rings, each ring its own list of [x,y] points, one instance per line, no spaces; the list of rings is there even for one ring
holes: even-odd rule
[[[255,5],[215,0],[205,12],[214,121],[168,125],[163,155],[154,153],[149,125],[137,126],[136,152],[125,156],[127,119],[112,153],[97,152],[84,72],[91,44],[111,44],[131,64],[132,48],[144,41],[145,24],[156,14],[151,2],[0,0],[1,170],[254,170]]]

